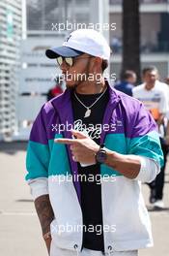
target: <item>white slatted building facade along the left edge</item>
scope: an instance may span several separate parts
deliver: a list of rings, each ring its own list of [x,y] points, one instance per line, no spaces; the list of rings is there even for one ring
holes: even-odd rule
[[[21,0],[0,1],[0,138],[16,129]]]

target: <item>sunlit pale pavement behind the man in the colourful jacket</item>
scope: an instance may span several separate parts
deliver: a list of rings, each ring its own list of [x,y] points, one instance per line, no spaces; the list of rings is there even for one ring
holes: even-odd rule
[[[29,187],[24,181],[25,143],[0,143],[0,255],[47,256]],[[169,162],[169,161],[168,161]],[[169,256],[169,165],[166,168],[163,210],[149,206],[149,187],[143,184],[150,209],[155,246],[139,256]]]

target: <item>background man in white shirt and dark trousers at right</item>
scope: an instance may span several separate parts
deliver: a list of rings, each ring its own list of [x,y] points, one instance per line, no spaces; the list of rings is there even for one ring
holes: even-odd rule
[[[159,131],[161,125],[164,124],[164,117],[168,111],[168,94],[162,82],[158,80],[158,71],[153,67],[143,69],[144,83],[133,89],[133,97],[142,101],[145,107],[152,113],[155,122],[158,125]],[[160,143],[164,154],[164,165],[161,172],[156,176],[155,181],[150,184],[151,196],[150,203],[154,203],[155,208],[163,208],[163,186],[164,186],[164,169],[166,165],[166,156],[168,146],[165,143],[163,136],[160,136]]]

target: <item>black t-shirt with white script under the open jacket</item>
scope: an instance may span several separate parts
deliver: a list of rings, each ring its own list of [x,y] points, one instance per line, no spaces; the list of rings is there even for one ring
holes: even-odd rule
[[[85,106],[91,106],[101,95],[99,94],[77,94]],[[91,108],[91,114],[84,117],[87,111],[71,92],[71,103],[75,129],[87,130],[90,137],[99,144],[100,125],[108,102],[108,89],[99,101]],[[77,128],[78,127],[78,128]],[[95,129],[96,128],[96,129]],[[81,209],[83,214],[83,247],[92,250],[104,250],[102,232],[102,207],[101,207],[101,185],[99,181],[99,164],[81,167],[78,165],[78,174],[86,176],[86,180],[80,181],[81,186]]]

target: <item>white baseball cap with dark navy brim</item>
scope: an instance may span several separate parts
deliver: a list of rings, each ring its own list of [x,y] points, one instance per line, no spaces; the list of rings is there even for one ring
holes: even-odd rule
[[[83,53],[108,60],[111,49],[106,40],[94,29],[78,29],[70,33],[60,48],[46,49],[48,58],[75,57]]]

